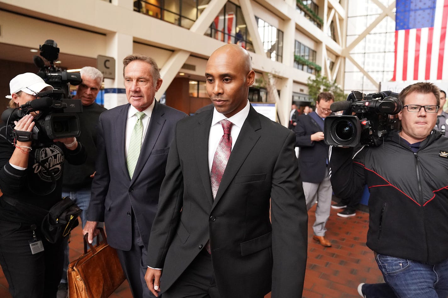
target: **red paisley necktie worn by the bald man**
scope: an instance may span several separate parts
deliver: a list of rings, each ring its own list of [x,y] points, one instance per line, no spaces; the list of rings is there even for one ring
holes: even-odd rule
[[[221,120],[221,126],[224,130],[218,148],[216,148],[215,156],[213,157],[213,163],[211,164],[210,182],[211,192],[213,194],[213,200],[215,200],[216,192],[220,187],[221,179],[223,178],[225,167],[227,166],[228,158],[232,152],[232,136],[230,131],[232,130],[233,123],[228,120]],[[205,249],[211,254],[210,240],[205,244]]]

